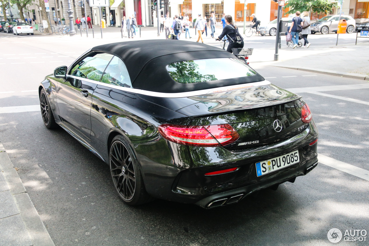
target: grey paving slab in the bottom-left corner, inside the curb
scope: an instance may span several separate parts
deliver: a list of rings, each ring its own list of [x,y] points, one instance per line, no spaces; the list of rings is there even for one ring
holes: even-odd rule
[[[0,219],[0,235],[0,245],[33,245],[20,215],[13,215]]]

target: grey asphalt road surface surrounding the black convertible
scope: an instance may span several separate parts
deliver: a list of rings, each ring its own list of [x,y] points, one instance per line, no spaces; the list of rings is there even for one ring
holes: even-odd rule
[[[114,41],[119,40],[0,33],[0,107],[37,105],[37,87],[46,74],[93,45]],[[293,91],[330,86],[323,95],[311,89],[297,93],[320,131],[318,152],[369,170],[369,89],[334,90],[367,82],[251,65]],[[222,208],[163,200],[130,207],[116,194],[108,166],[64,130],[46,129],[40,112],[0,113],[0,141],[55,245],[331,245],[326,237],[332,227],[369,230],[369,181],[324,164],[277,191]]]

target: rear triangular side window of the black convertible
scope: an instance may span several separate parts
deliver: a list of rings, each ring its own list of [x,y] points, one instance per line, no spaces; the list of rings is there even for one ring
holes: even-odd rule
[[[127,67],[118,57],[113,57],[113,59],[111,59],[111,62],[107,66],[100,82],[132,88]]]

